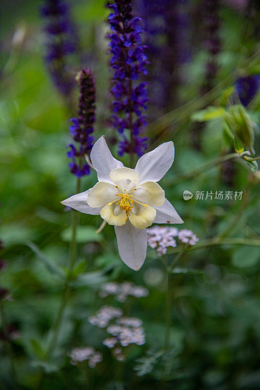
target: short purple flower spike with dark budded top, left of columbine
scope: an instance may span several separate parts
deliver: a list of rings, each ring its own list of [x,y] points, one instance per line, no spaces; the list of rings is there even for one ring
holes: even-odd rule
[[[78,115],[76,118],[71,118],[69,131],[77,142],[68,145],[70,150],[67,152],[68,158],[72,159],[69,168],[70,172],[77,177],[90,174],[90,168],[87,163],[84,163],[84,155],[89,155],[93,146],[94,123],[96,121],[96,90],[93,75],[90,70],[83,69],[80,72],[79,78],[80,97],[78,106]]]

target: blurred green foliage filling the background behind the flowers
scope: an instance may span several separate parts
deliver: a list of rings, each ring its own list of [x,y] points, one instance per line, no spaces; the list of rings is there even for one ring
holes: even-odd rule
[[[114,228],[106,226],[101,234],[95,234],[101,219],[91,215],[80,214],[79,259],[70,303],[55,354],[50,361],[43,361],[63,289],[62,275],[66,273],[71,213],[59,202],[75,192],[76,179],[67,168],[66,145],[70,142],[68,119],[76,114],[78,95],[75,91],[75,107],[68,110],[49,79],[42,59],[39,4],[4,0],[0,21],[0,238],[5,247],[2,257],[8,261],[7,269],[0,273],[0,284],[13,297],[3,302],[3,308],[8,323],[19,331],[12,342],[19,388],[38,389],[43,367],[42,389],[159,389],[168,367],[167,383],[162,384],[165,389],[259,389],[260,247],[218,245],[182,256],[180,268],[186,271],[172,275],[172,348],[164,353],[165,283],[160,260],[149,249],[140,272],[133,272],[119,258]],[[73,2],[73,15],[81,47],[90,53],[94,50],[96,56],[98,138],[107,134],[105,120],[110,113],[107,41],[103,38],[107,11],[101,0],[77,0]],[[238,74],[260,72],[253,21],[227,6],[222,9],[222,19],[223,49],[213,96],[216,105]],[[25,38],[14,48],[12,36],[19,26],[25,28]],[[198,100],[204,61],[205,52],[200,50],[183,65],[187,80],[179,91],[180,106],[166,116],[168,122],[162,116],[148,126],[152,137],[166,128],[158,142],[172,139],[175,143],[174,165],[161,184],[184,220],[182,227],[192,229],[200,241],[223,233],[229,238],[259,239],[260,176],[243,161],[234,161],[231,190],[243,191],[242,199],[248,196],[244,206],[243,200],[202,201],[194,196],[184,201],[182,197],[184,190],[194,194],[230,190],[223,184],[222,165],[196,171],[232,149],[232,143],[223,138],[220,122],[206,123],[201,151],[191,147],[191,116],[204,105]],[[76,58],[72,67],[75,74],[80,70]],[[259,124],[259,95],[252,102],[250,115]],[[255,149],[259,156],[259,136]],[[116,149],[113,153],[116,156]],[[124,163],[127,165],[127,157]],[[95,182],[92,172],[83,178],[82,191]],[[174,253],[169,258],[174,258]],[[146,298],[133,298],[125,304],[106,298],[105,303],[140,317],[146,331],[146,344],[131,347],[121,366],[102,345],[102,331],[87,321],[104,304],[98,292],[108,280],[130,280],[150,292]],[[104,354],[97,369],[88,372],[85,367],[70,365],[67,356],[71,348],[86,345]],[[12,386],[7,349],[1,343],[0,389]]]

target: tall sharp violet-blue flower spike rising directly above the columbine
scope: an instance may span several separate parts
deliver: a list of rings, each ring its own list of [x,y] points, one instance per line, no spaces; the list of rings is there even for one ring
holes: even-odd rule
[[[110,39],[110,65],[113,71],[111,93],[113,101],[113,127],[118,130],[123,139],[119,145],[119,155],[124,153],[141,156],[146,149],[147,137],[140,137],[142,128],[146,125],[143,110],[146,110],[147,82],[138,82],[140,75],[147,75],[148,64],[141,44],[140,18],[132,14],[131,0],[115,0],[108,6],[111,13],[108,17],[112,33]],[[125,136],[129,130],[130,139]]]

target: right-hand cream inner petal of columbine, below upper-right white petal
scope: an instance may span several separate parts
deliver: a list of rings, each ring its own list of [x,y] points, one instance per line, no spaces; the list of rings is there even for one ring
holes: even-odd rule
[[[132,192],[133,199],[150,206],[162,206],[165,200],[164,191],[154,181],[146,181]]]

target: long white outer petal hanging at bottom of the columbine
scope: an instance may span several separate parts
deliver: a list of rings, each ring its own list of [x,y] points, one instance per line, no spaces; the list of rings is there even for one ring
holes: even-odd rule
[[[138,230],[127,221],[123,226],[115,226],[115,232],[121,259],[132,270],[140,270],[146,257],[146,230]]]

